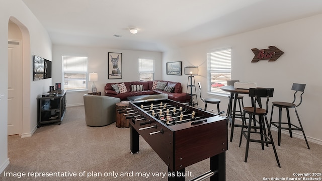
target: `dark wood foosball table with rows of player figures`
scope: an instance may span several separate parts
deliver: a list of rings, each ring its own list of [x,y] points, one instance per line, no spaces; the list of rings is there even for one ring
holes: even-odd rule
[[[167,164],[168,180],[185,180],[185,168],[207,158],[210,171],[192,180],[225,180],[226,118],[168,99],[130,102],[118,111],[130,119],[131,153],[142,136]]]

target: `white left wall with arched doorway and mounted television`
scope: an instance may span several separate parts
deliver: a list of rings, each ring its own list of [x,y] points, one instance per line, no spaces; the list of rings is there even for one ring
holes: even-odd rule
[[[48,33],[21,0],[0,0],[0,172],[9,164],[8,158],[8,34],[9,20],[21,29],[23,43],[23,120],[22,137],[31,136],[37,128],[36,98],[47,91],[51,79],[32,81],[32,55],[51,59],[52,47]]]

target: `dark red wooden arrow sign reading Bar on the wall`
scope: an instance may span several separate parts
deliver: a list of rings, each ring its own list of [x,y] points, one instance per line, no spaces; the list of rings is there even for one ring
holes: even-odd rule
[[[252,62],[258,62],[260,60],[275,61],[284,53],[280,49],[276,48],[276,46],[269,46],[268,49],[262,50],[252,48],[252,51],[255,54]]]

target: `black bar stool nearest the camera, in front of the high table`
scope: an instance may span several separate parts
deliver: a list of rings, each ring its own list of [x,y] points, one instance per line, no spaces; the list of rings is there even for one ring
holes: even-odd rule
[[[270,127],[268,127],[268,134],[266,134],[266,128],[265,128],[265,123],[266,125],[268,124],[267,120],[267,113],[268,113],[268,102],[269,98],[273,97],[273,92],[274,88],[250,88],[250,93],[249,96],[254,99],[254,107],[244,107],[244,120],[243,120],[243,125],[241,125],[241,132],[240,132],[240,140],[239,140],[239,147],[241,144],[241,139],[243,138],[243,135],[247,139],[246,143],[246,152],[245,152],[245,162],[247,162],[248,158],[248,150],[249,150],[249,144],[250,142],[257,142],[262,144],[262,149],[264,150],[264,144],[268,146],[268,144],[272,144],[275,158],[277,161],[277,164],[279,167],[281,167],[280,162],[278,160],[278,156],[276,153],[275,145],[273,142],[272,134]],[[259,103],[259,100],[261,98],[267,98],[266,101],[266,109],[263,108],[257,108],[257,103]],[[246,125],[246,113],[249,114],[249,122],[248,125]],[[256,116],[258,116],[258,120],[256,120]],[[252,126],[252,120],[256,120],[259,123],[259,126]],[[264,121],[265,120],[265,121]],[[245,130],[246,129],[246,130]],[[252,129],[255,129],[254,131]],[[251,134],[260,134],[261,139],[251,139]]]

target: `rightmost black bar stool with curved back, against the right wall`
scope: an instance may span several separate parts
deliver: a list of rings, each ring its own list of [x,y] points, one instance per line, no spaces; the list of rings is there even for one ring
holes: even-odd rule
[[[308,146],[308,142],[306,140],[306,136],[305,136],[305,133],[304,133],[300,118],[299,118],[299,116],[297,114],[297,111],[296,111],[296,107],[298,107],[302,103],[302,95],[304,94],[304,89],[305,89],[305,84],[293,83],[292,90],[295,91],[295,93],[294,93],[294,100],[293,100],[292,103],[272,102],[273,106],[272,106],[270,126],[273,125],[273,126],[278,128],[278,145],[279,146],[281,145],[281,130],[286,129],[286,130],[289,130],[289,134],[290,134],[291,138],[292,138],[292,130],[302,131],[304,139],[305,139],[305,142],[306,142],[306,145],[307,145],[307,148],[310,149],[310,147]],[[300,102],[298,103],[298,105],[295,105],[294,103],[296,101],[296,97],[297,97],[296,93],[297,92],[301,92],[301,94],[300,94]],[[278,110],[279,110],[278,122],[273,122],[272,121],[274,106],[278,107]],[[282,122],[282,108],[286,108],[287,122]],[[298,123],[299,123],[300,127],[298,127],[298,126],[296,126],[296,125],[291,123],[290,114],[289,114],[289,109],[290,108],[294,108],[295,113],[296,113],[296,117],[297,117],[297,120],[298,120]],[[288,127],[282,127],[282,124],[287,124]]]

